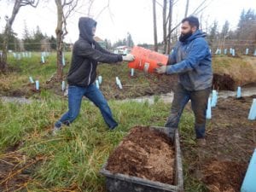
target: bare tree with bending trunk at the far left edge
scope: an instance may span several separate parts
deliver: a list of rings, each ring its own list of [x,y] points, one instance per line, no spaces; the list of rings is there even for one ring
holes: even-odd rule
[[[30,5],[33,8],[38,6],[39,0],[15,0],[15,5],[13,8],[12,15],[5,16],[6,26],[3,32],[3,54],[0,57],[0,72],[4,72],[8,68],[7,64],[7,53],[9,49],[9,37],[12,32],[12,26],[15,21],[16,15],[19,13],[20,8],[26,5]]]

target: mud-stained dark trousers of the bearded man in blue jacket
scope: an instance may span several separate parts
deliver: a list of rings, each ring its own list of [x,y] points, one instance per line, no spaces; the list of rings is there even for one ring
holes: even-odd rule
[[[205,137],[207,123],[207,102],[211,88],[206,90],[189,91],[177,84],[174,91],[171,113],[166,121],[166,127],[177,128],[185,105],[191,100],[192,110],[195,114],[195,135],[196,138]]]

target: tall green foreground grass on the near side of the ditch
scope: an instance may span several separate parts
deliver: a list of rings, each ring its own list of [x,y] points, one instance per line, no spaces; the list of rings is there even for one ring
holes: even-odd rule
[[[119,126],[108,131],[99,110],[84,101],[79,118],[57,136],[49,132],[55,120],[67,110],[66,100],[46,99],[27,105],[1,103],[0,148],[23,143],[19,151],[29,158],[44,157],[32,169],[33,183],[28,189],[68,189],[77,186],[83,191],[104,191],[104,179],[99,170],[108,154],[134,125],[164,125],[169,106],[163,102],[109,102]],[[193,115],[184,113],[181,119],[184,142],[193,143]],[[183,162],[186,167],[188,162]],[[188,191],[203,191],[200,182],[192,182],[184,168]],[[37,183],[41,183],[38,185]],[[189,184],[189,185],[188,185]],[[192,190],[196,189],[196,190]],[[198,189],[198,190],[197,190]]]

